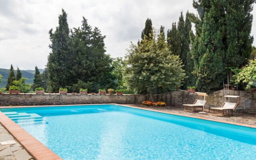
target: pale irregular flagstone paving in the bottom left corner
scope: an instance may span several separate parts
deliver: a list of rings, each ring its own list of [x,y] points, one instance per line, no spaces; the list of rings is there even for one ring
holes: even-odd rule
[[[15,144],[0,144],[0,160],[34,160],[30,154],[13,138],[0,124],[0,142],[14,142]]]

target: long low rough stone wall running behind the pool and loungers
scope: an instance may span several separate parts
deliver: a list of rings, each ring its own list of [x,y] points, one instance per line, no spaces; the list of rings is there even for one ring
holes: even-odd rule
[[[230,95],[240,96],[238,107],[246,112],[256,113],[256,92],[230,90]],[[227,90],[226,90],[227,94]],[[0,94],[0,106],[8,105],[56,105],[56,104],[140,104],[148,100],[148,95],[99,95],[99,94]],[[202,99],[202,97],[201,97]],[[184,90],[177,90],[166,94],[155,95],[155,100],[166,102],[168,106],[182,107],[182,104],[192,104],[196,94]],[[209,94],[209,102],[220,107],[224,102],[224,90]],[[230,102],[232,99],[230,98]]]

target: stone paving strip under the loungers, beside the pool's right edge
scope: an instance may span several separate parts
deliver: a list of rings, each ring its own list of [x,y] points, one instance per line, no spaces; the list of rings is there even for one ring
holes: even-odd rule
[[[126,104],[127,106],[135,106],[135,107],[139,107],[139,108],[147,108],[147,109],[151,109],[151,110],[158,110],[158,111],[164,111],[164,112],[170,112],[170,113],[176,113],[176,114],[185,114],[185,115],[189,115],[189,116],[196,116],[196,117],[203,117],[203,118],[209,118],[209,119],[214,119],[214,120],[224,120],[224,121],[228,121],[228,122],[234,122],[234,123],[240,123],[240,124],[249,124],[249,125],[254,125],[256,126],[256,116],[253,114],[244,114],[244,117],[241,116],[237,116],[236,117],[236,112],[233,112],[233,116],[227,116],[224,115],[223,117],[221,116],[216,116],[214,113],[214,116],[212,116],[212,110],[210,110],[210,112],[208,112],[208,108],[205,108],[205,112],[207,112],[207,114],[199,114],[197,112],[184,112],[184,108],[180,108],[180,107],[170,107],[170,106],[165,106],[165,107],[156,107],[156,106],[142,106],[140,104]],[[200,110],[200,108],[197,108],[197,110]],[[218,113],[218,111],[216,111]],[[221,115],[221,113],[220,113]]]

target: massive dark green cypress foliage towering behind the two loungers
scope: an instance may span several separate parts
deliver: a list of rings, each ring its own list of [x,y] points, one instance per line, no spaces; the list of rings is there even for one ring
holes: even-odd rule
[[[254,0],[193,1],[199,17],[189,14],[196,27],[196,35],[190,34],[191,54],[200,91],[222,88],[225,68],[239,68],[250,58],[253,3]]]

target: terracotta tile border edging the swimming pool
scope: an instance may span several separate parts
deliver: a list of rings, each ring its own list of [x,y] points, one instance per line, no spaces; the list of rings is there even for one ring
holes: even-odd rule
[[[209,120],[214,122],[221,122],[226,124],[233,124],[237,126],[244,126],[249,128],[256,128],[254,125],[249,124],[241,124],[241,123],[234,123],[234,122],[228,122],[225,120],[214,120],[210,118],[203,118],[203,117],[197,117],[197,116],[190,116],[185,114],[177,114],[173,112],[165,112],[165,111],[159,111],[159,110],[152,110],[147,108],[140,108],[135,106],[128,106],[125,104],[114,104],[110,103],[112,105],[117,106],[124,106],[129,108],[136,108],[140,110],[148,110],[152,112],[159,112],[159,113],[165,113],[165,114],[172,114],[177,116],[184,116],[184,117],[190,117],[190,118],[197,118],[201,120]],[[30,107],[61,107],[61,106],[89,106],[89,105],[106,105],[106,104],[72,104],[72,105],[47,105],[47,106],[2,106],[0,108],[30,108]],[[10,118],[8,118],[4,113],[0,111],[0,123],[14,138],[33,156],[36,160],[62,160],[58,155],[56,155],[54,152],[52,152],[49,148],[44,146],[41,142],[36,140],[32,135],[30,135],[28,132],[26,132],[23,128],[21,128],[18,124],[16,124],[14,121],[12,121]]]

